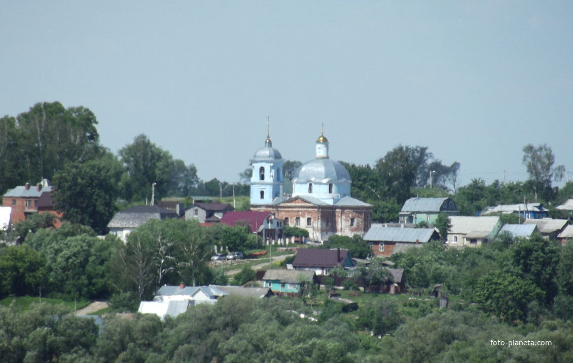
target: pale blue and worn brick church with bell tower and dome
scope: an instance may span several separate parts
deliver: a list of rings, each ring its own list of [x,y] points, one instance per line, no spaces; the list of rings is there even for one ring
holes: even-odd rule
[[[284,195],[281,153],[267,133],[265,146],[250,159],[252,210],[273,213],[285,225],[307,229],[309,239],[326,241],[333,235],[364,236],[370,229],[372,205],[352,198],[346,167],[328,157],[328,139],[321,131],[316,157],[296,170],[292,196]]]

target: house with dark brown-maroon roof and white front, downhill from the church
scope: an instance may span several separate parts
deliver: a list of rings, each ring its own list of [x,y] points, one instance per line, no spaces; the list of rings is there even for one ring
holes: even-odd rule
[[[333,268],[354,267],[354,262],[347,249],[301,248],[296,252],[292,267],[295,270],[312,270],[317,275],[328,275]]]

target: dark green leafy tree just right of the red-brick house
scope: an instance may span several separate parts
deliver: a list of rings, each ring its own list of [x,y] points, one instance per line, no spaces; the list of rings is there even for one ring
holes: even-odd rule
[[[116,212],[121,164],[111,154],[92,161],[67,163],[54,174],[52,197],[64,220],[90,226],[100,234]]]

